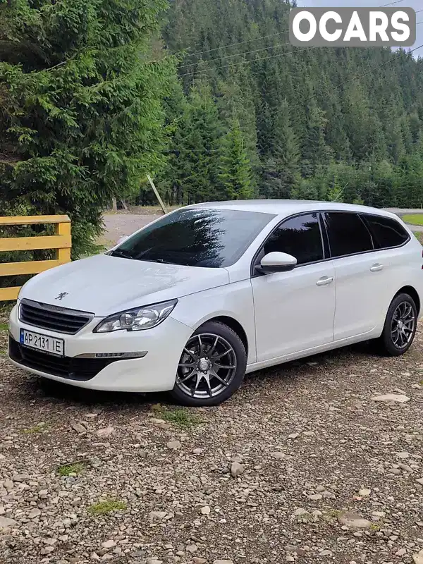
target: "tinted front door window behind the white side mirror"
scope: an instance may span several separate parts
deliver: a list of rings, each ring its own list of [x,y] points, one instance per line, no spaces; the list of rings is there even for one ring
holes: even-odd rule
[[[284,221],[264,244],[268,252],[288,252],[298,264],[323,259],[323,247],[317,214],[307,214]]]

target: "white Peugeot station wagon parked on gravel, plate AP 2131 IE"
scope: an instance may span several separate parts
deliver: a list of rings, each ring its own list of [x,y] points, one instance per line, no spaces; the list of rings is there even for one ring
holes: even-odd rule
[[[216,405],[246,372],[288,360],[371,339],[405,353],[422,265],[412,232],[379,209],[195,204],[28,281],[9,357],[73,386]]]

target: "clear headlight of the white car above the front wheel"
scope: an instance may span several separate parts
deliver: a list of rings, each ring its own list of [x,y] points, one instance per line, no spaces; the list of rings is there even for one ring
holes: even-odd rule
[[[170,300],[160,304],[127,309],[125,312],[116,313],[103,319],[94,329],[94,333],[110,333],[122,329],[126,331],[151,329],[166,319],[177,303],[178,300]]]

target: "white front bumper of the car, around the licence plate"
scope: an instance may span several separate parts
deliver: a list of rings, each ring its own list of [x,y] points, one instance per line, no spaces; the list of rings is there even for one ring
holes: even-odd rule
[[[18,308],[14,307],[9,323],[9,359],[32,374],[81,388],[127,392],[166,391],[173,388],[180,355],[192,333],[190,327],[168,317],[157,327],[146,331],[92,333],[98,323],[99,318],[94,318],[75,335],[56,333],[19,321]],[[21,328],[63,339],[66,356],[52,357],[22,348],[19,345]],[[80,357],[87,353],[137,351],[147,354],[125,360]]]

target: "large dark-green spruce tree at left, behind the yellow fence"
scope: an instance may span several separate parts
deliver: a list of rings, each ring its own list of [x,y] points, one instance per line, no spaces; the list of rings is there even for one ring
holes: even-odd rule
[[[0,7],[0,209],[69,214],[73,255],[112,197],[159,168],[171,59],[152,61],[164,0]]]

